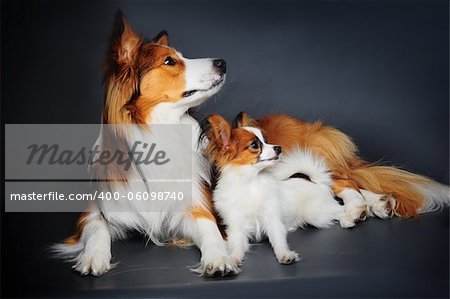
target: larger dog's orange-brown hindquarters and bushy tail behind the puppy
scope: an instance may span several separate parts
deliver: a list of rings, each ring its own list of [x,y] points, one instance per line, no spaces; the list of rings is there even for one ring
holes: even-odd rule
[[[358,157],[350,137],[320,122],[306,123],[283,114],[253,120],[241,112],[235,123],[260,128],[267,141],[280,145],[284,153],[300,148],[324,158],[332,175],[333,192],[344,202],[343,227],[352,227],[366,216],[417,217],[450,203],[448,186],[395,167],[365,162]],[[278,176],[294,174],[292,165],[284,163],[284,170],[277,170]]]

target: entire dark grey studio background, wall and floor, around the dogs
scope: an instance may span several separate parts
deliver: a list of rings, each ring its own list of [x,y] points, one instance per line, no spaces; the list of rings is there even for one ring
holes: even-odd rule
[[[352,136],[368,160],[448,183],[447,1],[2,2],[6,123],[99,122],[100,65],[118,7],[144,36],[168,30],[187,57],[227,60],[228,82],[201,115],[321,119]],[[351,231],[300,231],[290,242],[305,262],[280,267],[263,244],[236,280],[214,283],[186,269],[197,251],[144,248],[141,239],[113,247],[122,279],[119,269],[82,279],[46,258],[75,217],[3,214],[7,295],[448,295],[447,212],[418,223],[372,219]]]

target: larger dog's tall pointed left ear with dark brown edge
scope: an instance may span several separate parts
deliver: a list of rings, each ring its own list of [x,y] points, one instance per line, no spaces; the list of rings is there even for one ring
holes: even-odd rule
[[[128,21],[119,10],[114,19],[113,32],[109,42],[109,57],[118,64],[132,65],[137,60],[142,38],[134,33]]]

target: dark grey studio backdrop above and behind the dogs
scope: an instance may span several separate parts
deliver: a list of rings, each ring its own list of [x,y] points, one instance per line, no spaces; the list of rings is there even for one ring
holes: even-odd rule
[[[448,181],[447,1],[136,1],[3,10],[6,123],[98,123],[101,61],[121,7],[146,37],[228,61],[201,109],[321,119],[383,158]]]

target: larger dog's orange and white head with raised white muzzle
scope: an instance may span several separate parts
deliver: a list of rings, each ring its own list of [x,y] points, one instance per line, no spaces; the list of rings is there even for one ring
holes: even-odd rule
[[[222,59],[187,59],[169,46],[167,32],[145,40],[119,11],[105,59],[103,122],[151,123],[152,112],[181,116],[222,87]]]

